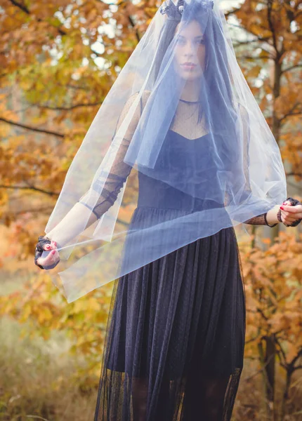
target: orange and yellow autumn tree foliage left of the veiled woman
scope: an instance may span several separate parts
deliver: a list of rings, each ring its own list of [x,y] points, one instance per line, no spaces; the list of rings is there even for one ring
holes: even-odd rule
[[[155,10],[153,1],[1,1],[0,221],[10,229],[3,271],[28,257],[34,270],[37,236],[67,169]],[[26,289],[3,298],[1,311],[32,321],[44,338],[65,329],[96,375],[110,286],[68,307],[38,270]]]

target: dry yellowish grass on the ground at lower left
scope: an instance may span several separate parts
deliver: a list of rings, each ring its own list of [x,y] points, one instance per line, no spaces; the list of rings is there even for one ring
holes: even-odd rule
[[[20,330],[18,323],[1,319],[0,420],[93,420],[96,391],[83,394],[74,383],[77,361],[60,356],[63,338],[33,341],[20,338]]]

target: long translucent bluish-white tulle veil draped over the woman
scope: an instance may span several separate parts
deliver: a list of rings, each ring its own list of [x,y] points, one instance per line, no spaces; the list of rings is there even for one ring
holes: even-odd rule
[[[169,142],[171,131],[188,142],[186,158]],[[142,228],[131,220],[143,178],[164,183],[171,203],[173,192],[184,199]],[[279,147],[239,68],[218,2],[166,0],[67,172],[45,229],[60,246],[60,263],[49,274],[72,302],[286,196]]]

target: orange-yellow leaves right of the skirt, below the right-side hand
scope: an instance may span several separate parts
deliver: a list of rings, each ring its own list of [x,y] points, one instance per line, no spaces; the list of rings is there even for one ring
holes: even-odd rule
[[[265,336],[275,335],[289,363],[301,347],[302,235],[280,233],[265,250],[241,254],[247,297],[247,354],[256,354]],[[287,354],[290,349],[290,354]]]

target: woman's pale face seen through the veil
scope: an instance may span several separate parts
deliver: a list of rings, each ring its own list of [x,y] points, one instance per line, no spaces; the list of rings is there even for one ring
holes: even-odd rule
[[[188,81],[197,79],[204,72],[206,47],[204,35],[196,20],[176,35],[174,67],[179,76]]]

